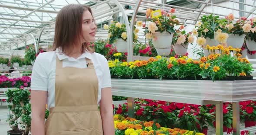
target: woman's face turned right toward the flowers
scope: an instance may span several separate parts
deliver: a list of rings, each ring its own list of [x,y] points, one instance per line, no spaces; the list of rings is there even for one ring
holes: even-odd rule
[[[82,16],[82,42],[94,42],[96,28],[89,10],[84,11]]]

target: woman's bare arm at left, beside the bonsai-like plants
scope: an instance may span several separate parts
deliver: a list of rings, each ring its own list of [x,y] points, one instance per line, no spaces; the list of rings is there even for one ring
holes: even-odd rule
[[[32,135],[45,135],[46,100],[47,91],[31,90]]]

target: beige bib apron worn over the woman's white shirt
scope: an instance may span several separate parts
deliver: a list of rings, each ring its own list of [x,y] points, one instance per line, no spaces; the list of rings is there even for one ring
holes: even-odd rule
[[[56,57],[55,107],[46,120],[46,135],[103,135],[98,111],[98,78],[88,68],[62,67]]]

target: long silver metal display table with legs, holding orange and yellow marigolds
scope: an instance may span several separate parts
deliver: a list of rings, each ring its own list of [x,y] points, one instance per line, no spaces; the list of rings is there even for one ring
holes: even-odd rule
[[[129,117],[134,115],[133,98],[197,105],[216,104],[217,135],[223,135],[223,102],[233,103],[233,134],[239,135],[239,102],[256,100],[256,80],[111,80],[113,95],[128,97]]]

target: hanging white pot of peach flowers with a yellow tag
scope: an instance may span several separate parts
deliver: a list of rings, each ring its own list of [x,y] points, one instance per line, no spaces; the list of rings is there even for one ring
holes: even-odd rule
[[[174,26],[181,25],[173,15],[175,9],[171,9],[169,13],[161,10],[161,16],[157,18],[151,18],[151,12],[153,10],[146,10],[147,20],[150,22],[148,25],[143,25],[145,38],[151,39],[156,48],[158,55],[169,55],[171,52],[171,42],[176,29]]]

